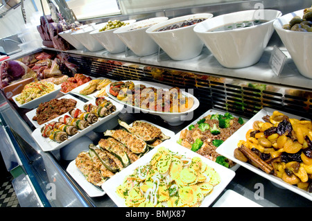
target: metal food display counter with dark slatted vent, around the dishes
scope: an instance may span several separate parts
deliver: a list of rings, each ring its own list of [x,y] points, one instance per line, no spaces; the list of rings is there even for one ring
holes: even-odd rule
[[[305,2],[300,3],[303,5]],[[288,8],[284,8],[285,6],[281,8],[279,2],[276,3],[277,5],[272,4],[272,8],[278,8],[283,12],[294,9],[291,4],[288,5]],[[296,7],[304,8],[302,5]],[[239,10],[246,5],[241,3],[235,6],[233,10]],[[216,10],[216,14],[228,12],[228,8],[220,10],[215,7],[212,9]],[[198,10],[205,9],[207,8],[198,8]],[[187,9],[182,9],[159,13],[171,15],[176,12],[178,15],[179,13],[187,14],[186,11],[189,12]],[[153,17],[153,15],[150,16]],[[279,75],[269,65],[275,46],[284,51],[287,57],[284,69]],[[168,123],[162,116],[146,113],[144,110],[135,112],[134,109],[122,105],[114,119],[118,118],[128,124],[144,120],[176,135],[209,109],[214,109],[216,112],[229,112],[247,120],[266,107],[311,118],[311,80],[297,71],[276,33],[272,35],[259,62],[242,69],[222,67],[206,47],[202,49],[198,57],[186,61],[173,61],[161,49],[158,53],[144,57],[134,55],[128,48],[125,49],[125,52],[116,54],[106,50],[95,52],[76,49],[61,51],[45,46],[38,50],[46,53],[66,54],[69,62],[76,64],[80,73],[84,73],[92,79],[108,78],[113,81],[162,83],[168,87],[185,89],[198,99],[199,105],[192,112],[191,118],[177,125]],[[76,93],[69,92],[69,94],[83,103],[89,101]],[[59,92],[56,98],[62,96],[64,94]],[[0,114],[3,130],[0,132],[6,134],[6,139],[3,139],[5,144],[3,147],[14,158],[11,161],[13,166],[11,165],[9,170],[13,172],[13,169],[20,168],[15,179],[17,182],[22,180],[19,184],[24,183],[26,186],[31,186],[35,193],[32,197],[33,200],[28,201],[33,204],[27,206],[116,207],[116,203],[108,194],[103,193],[95,197],[88,194],[88,191],[85,191],[77,179],[74,179],[73,175],[69,173],[67,168],[76,157],[70,156],[69,150],[74,150],[71,143],[49,151],[45,151],[40,146],[42,143],[33,136],[33,132],[38,128],[27,116],[31,110],[33,109],[18,107],[1,91]],[[119,127],[114,121],[112,121],[112,125],[108,120],[105,123],[103,124],[105,130]],[[103,132],[104,129],[89,130],[83,135],[92,142],[98,143],[103,138]],[[177,139],[177,136],[172,136],[172,139]],[[173,142],[176,143],[175,140]],[[76,148],[79,148],[78,142],[75,145]],[[69,159],[70,157],[71,159]],[[8,159],[6,160],[8,161]],[[209,206],[312,206],[309,197],[279,186],[243,166],[238,166],[234,173],[233,179]],[[24,179],[24,177],[26,178]],[[18,192],[18,190],[15,191]]]

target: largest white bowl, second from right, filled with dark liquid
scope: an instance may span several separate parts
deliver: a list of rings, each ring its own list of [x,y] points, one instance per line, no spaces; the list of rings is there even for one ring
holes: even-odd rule
[[[194,32],[223,67],[243,68],[259,62],[274,32],[273,21],[280,16],[280,11],[267,9],[232,12],[203,21],[195,26]],[[207,31],[226,24],[254,19],[267,22],[235,30]]]

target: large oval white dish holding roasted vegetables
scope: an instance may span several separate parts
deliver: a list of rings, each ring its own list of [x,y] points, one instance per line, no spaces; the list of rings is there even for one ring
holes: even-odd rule
[[[132,82],[135,85],[145,85],[146,87],[155,87],[155,89],[170,89],[171,88],[171,87],[169,87],[167,85],[162,85],[162,84],[158,84],[158,83],[155,83],[155,82],[145,82],[145,81],[139,81],[139,80],[132,80]],[[141,108],[141,107],[136,107],[134,105],[130,105],[129,103],[125,103],[122,100],[119,100],[118,98],[116,98],[115,96],[110,94],[110,85],[107,85],[106,93],[108,94],[108,96],[110,98],[112,98],[116,102],[119,102],[121,104],[127,105],[128,107],[134,108],[137,111],[141,111],[143,113],[148,113],[148,114],[153,114],[153,115],[160,116],[169,125],[173,125],[173,126],[181,125],[184,121],[188,121],[191,118],[193,118],[193,111],[196,108],[198,108],[198,106],[199,106],[198,99],[195,96],[193,96],[192,94],[189,94],[189,93],[187,93],[185,91],[182,91],[182,94],[184,96],[187,96],[187,97],[193,99],[193,106],[191,107],[191,109],[188,109],[186,112],[157,112],[157,111],[152,111],[152,110],[149,110],[149,109],[144,109],[144,108]]]

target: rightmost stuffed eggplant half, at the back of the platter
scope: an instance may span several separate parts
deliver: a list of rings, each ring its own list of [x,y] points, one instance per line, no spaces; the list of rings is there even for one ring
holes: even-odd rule
[[[155,125],[152,125],[144,121],[135,121],[132,123],[132,127],[119,119],[119,125],[124,127],[128,132],[135,134],[146,143],[154,143],[157,140],[165,141],[170,139],[170,136],[166,136],[162,130]]]

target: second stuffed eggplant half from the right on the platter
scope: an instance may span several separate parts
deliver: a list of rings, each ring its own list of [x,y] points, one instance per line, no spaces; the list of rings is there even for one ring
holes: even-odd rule
[[[136,154],[144,153],[148,149],[145,141],[125,130],[107,130],[104,136],[112,136]]]

